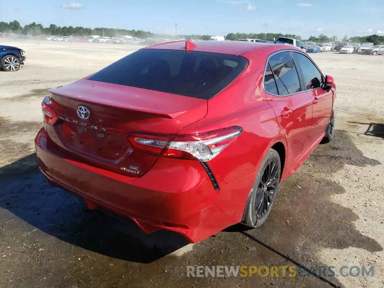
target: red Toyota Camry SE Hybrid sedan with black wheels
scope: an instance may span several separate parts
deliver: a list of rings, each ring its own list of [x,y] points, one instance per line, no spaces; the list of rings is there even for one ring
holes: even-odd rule
[[[294,46],[162,43],[51,89],[36,154],[88,208],[198,242],[265,222],[281,181],[332,140],[335,96]]]

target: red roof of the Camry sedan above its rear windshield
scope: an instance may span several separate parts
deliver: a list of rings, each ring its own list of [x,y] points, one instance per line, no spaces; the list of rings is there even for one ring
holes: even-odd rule
[[[222,53],[230,55],[242,55],[246,52],[260,51],[264,53],[273,53],[279,50],[301,50],[293,45],[283,45],[274,43],[259,43],[248,41],[204,41],[196,40],[191,42],[196,47],[191,48],[190,51]],[[287,47],[288,46],[288,47]],[[168,49],[168,50],[185,50],[185,41],[172,41],[166,43],[154,44],[142,49]]]

